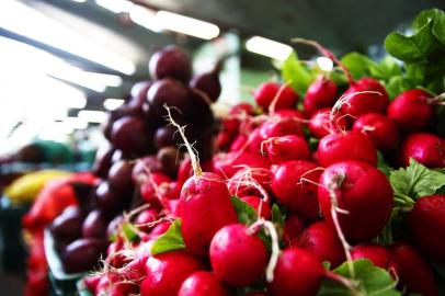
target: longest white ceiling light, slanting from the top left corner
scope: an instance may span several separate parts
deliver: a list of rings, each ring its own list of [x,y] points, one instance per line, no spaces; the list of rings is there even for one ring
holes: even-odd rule
[[[0,1],[0,26],[125,75],[133,75],[136,70],[133,61],[18,1]]]

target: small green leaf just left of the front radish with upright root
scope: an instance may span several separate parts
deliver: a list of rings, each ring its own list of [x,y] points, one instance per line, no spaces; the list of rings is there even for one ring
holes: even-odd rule
[[[166,234],[160,236],[151,247],[151,254],[159,254],[173,250],[185,249],[184,239],[181,232],[181,219],[175,219],[167,229]]]

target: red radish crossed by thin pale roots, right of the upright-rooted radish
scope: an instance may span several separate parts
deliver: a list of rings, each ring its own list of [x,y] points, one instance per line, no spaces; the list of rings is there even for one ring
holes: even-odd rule
[[[238,197],[255,195],[262,196],[261,192],[255,185],[246,184],[246,182],[256,182],[265,192],[271,191],[271,171],[269,169],[240,170],[233,174],[228,181],[228,187],[230,195],[237,195]]]

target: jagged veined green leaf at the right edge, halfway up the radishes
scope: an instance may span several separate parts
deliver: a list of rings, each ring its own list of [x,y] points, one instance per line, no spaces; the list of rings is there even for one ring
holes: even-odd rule
[[[434,194],[438,189],[445,186],[445,173],[430,170],[410,159],[410,166],[392,171],[389,181],[396,194],[419,198]]]

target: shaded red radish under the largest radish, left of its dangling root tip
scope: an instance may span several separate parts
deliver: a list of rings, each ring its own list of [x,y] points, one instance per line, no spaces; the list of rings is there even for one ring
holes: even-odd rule
[[[326,221],[317,221],[306,228],[296,244],[313,253],[320,262],[330,262],[332,267],[339,266],[345,260],[335,229]]]

